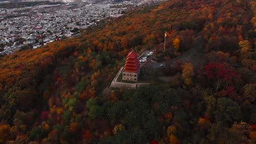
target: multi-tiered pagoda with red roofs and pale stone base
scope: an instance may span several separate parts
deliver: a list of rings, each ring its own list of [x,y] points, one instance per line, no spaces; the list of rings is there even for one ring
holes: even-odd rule
[[[132,51],[128,54],[123,69],[123,80],[127,81],[138,81],[139,76],[139,59],[137,57],[137,52]]]

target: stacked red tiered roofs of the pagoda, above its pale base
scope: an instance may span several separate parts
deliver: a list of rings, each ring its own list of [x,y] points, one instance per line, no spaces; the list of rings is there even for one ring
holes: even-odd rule
[[[127,55],[125,66],[123,71],[137,73],[139,70],[139,61],[137,57],[137,52],[132,51]]]

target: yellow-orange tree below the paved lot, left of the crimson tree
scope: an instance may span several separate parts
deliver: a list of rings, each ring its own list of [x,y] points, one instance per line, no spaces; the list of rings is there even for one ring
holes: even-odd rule
[[[188,86],[193,85],[191,77],[194,76],[193,64],[192,63],[185,63],[182,65],[182,78],[185,81],[185,84]]]

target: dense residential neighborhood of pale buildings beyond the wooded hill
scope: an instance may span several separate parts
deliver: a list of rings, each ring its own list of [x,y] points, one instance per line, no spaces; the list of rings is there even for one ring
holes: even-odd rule
[[[101,19],[119,17],[127,9],[147,3],[151,2],[85,1],[0,9],[0,54],[8,55],[22,47],[37,49],[73,37]]]

